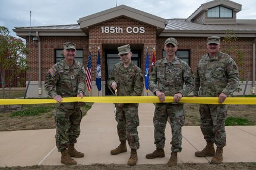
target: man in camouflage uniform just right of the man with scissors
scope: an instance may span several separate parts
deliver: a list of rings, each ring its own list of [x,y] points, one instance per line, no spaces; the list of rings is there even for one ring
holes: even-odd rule
[[[174,38],[165,41],[166,57],[158,60],[153,66],[149,76],[149,89],[157,95],[160,103],[156,103],[154,111],[154,144],[156,150],[146,155],[147,159],[165,157],[165,127],[167,118],[170,119],[172,128],[172,153],[167,163],[168,166],[177,165],[177,152],[181,152],[181,127],[185,121],[185,111],[182,97],[194,89],[194,77],[188,64],[176,56],[178,42]],[[163,103],[165,96],[173,96],[173,103]]]

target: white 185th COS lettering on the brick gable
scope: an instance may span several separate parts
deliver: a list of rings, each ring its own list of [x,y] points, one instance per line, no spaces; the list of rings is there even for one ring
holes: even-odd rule
[[[123,33],[123,28],[121,27],[100,27],[100,28],[102,28],[102,33]],[[131,34],[131,33],[143,34],[145,33],[145,28],[144,27],[127,27],[125,31],[128,34]]]

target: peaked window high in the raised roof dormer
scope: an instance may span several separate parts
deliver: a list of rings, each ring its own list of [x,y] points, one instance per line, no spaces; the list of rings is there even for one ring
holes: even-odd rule
[[[233,11],[232,9],[229,9],[229,8],[217,6],[217,7],[208,9],[207,17],[232,18]]]

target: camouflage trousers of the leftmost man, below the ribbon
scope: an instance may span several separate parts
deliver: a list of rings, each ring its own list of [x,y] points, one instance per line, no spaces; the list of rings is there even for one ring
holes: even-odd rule
[[[55,113],[56,146],[61,152],[68,145],[77,143],[80,135],[80,123],[82,112],[80,108],[63,109],[58,108]]]

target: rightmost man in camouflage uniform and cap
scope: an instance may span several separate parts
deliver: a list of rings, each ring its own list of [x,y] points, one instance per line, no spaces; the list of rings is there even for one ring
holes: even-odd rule
[[[227,96],[238,88],[238,66],[226,53],[220,52],[220,37],[208,37],[207,50],[198,62],[195,72],[195,96],[219,97],[221,105],[200,104],[201,131],[207,145],[195,152],[195,156],[214,156],[211,163],[223,161],[223,147],[226,146],[225,120],[227,105],[223,105]],[[216,144],[216,152],[213,143]]]

